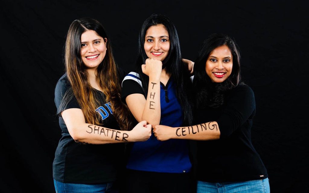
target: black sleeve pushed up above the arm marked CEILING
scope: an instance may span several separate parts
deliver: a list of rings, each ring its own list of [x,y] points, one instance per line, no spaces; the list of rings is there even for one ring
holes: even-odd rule
[[[231,94],[228,94],[226,107],[217,120],[220,138],[230,136],[247,121],[252,122],[255,111],[256,104],[252,89],[247,85],[236,87]]]

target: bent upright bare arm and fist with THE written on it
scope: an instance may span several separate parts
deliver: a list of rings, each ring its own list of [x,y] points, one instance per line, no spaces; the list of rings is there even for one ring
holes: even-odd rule
[[[149,76],[148,94],[145,99],[142,94],[130,94],[125,101],[136,120],[146,120],[147,124],[155,125],[160,123],[160,77],[162,62],[154,59],[147,59],[142,65],[142,72]]]

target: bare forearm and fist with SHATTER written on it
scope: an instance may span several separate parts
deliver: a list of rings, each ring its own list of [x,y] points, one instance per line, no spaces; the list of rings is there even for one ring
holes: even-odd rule
[[[108,144],[146,141],[151,136],[151,125],[146,121],[138,123],[131,131],[109,129],[85,122],[81,109],[70,108],[62,111],[61,116],[75,141],[88,144]]]

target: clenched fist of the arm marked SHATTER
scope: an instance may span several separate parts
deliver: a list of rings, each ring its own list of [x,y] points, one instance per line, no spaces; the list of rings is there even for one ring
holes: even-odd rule
[[[132,141],[147,141],[151,136],[151,125],[146,121],[139,122],[130,132]]]

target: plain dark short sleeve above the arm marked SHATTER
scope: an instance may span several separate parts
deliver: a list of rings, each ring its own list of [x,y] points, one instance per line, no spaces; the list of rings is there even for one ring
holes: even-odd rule
[[[64,74],[57,82],[55,88],[55,104],[59,116],[61,112],[66,109],[81,108],[73,94],[73,90],[71,89],[66,74]]]

